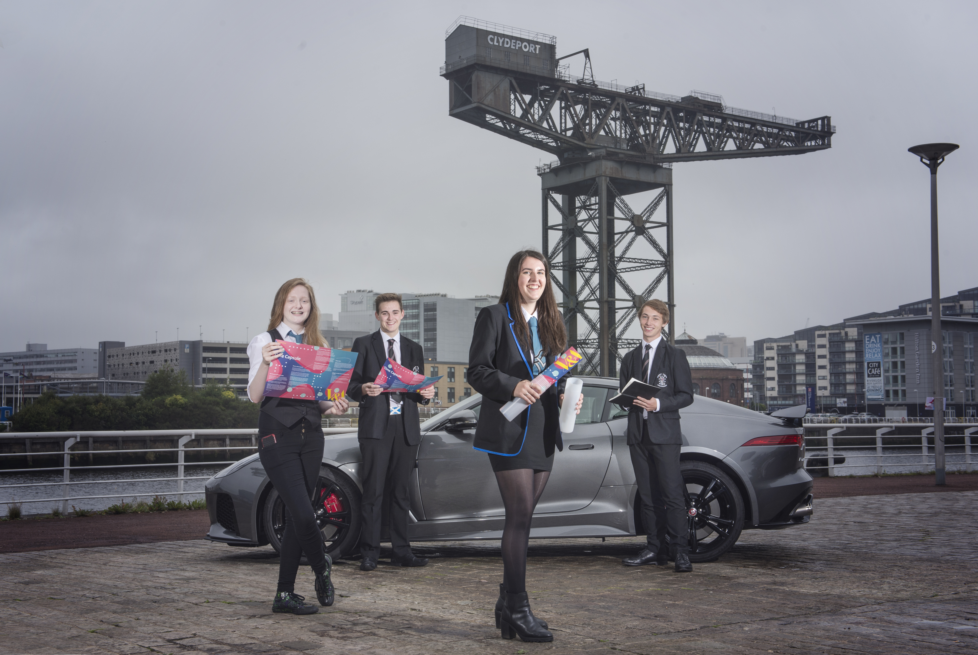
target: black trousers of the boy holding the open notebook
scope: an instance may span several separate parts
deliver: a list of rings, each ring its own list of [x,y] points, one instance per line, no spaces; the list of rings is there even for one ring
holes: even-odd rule
[[[635,481],[642,499],[642,522],[649,550],[664,547],[666,534],[672,554],[689,553],[689,520],[683,494],[683,475],[679,470],[680,444],[653,444],[648,424],[642,426],[642,443],[628,447],[635,468]]]

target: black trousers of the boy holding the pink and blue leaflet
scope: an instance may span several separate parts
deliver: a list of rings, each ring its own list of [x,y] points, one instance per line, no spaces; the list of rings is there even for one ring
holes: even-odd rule
[[[418,446],[408,444],[404,435],[404,415],[387,417],[382,439],[361,439],[363,454],[363,500],[360,502],[363,527],[360,552],[364,557],[380,554],[380,524],[383,520],[384,489],[390,501],[388,517],[390,545],[394,556],[411,553],[408,542],[408,512],[411,510],[411,475],[418,460]]]

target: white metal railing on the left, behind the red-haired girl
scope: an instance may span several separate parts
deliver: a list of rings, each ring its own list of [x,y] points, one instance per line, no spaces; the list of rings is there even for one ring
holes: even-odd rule
[[[343,434],[349,432],[349,430],[342,428],[324,428],[323,430],[327,434]],[[67,514],[67,508],[69,501],[84,501],[84,500],[94,500],[94,499],[110,499],[110,498],[142,498],[142,497],[154,497],[159,496],[160,492],[152,492],[147,494],[106,494],[100,496],[70,496],[69,487],[70,485],[85,485],[85,484],[112,484],[112,483],[125,483],[125,482],[164,482],[164,481],[175,481],[177,483],[177,489],[175,493],[179,502],[184,502],[185,496],[200,496],[203,491],[185,491],[184,482],[187,480],[206,480],[210,476],[188,476],[185,475],[186,466],[213,466],[219,464],[233,464],[240,459],[232,459],[228,461],[187,461],[187,453],[206,453],[211,451],[254,451],[257,450],[255,445],[255,437],[258,435],[257,429],[212,429],[212,430],[111,430],[111,431],[92,431],[92,432],[14,432],[0,434],[0,442],[9,442],[15,440],[50,440],[50,441],[63,441],[63,448],[60,451],[50,451],[43,453],[0,453],[0,458],[12,458],[12,457],[40,457],[40,456],[63,456],[64,463],[61,466],[47,466],[47,467],[30,467],[30,468],[7,468],[0,469],[0,474],[4,473],[33,473],[39,471],[63,471],[64,476],[60,482],[41,482],[41,483],[31,483],[31,484],[16,484],[16,485],[0,485],[0,489],[23,489],[23,488],[36,488],[36,487],[61,487],[62,496],[60,498],[46,498],[46,499],[26,499],[20,501],[5,501],[4,504],[11,503],[24,503],[24,502],[61,502],[62,503],[62,513]],[[202,439],[205,437],[250,437],[250,446],[231,446],[225,444],[225,446],[210,447],[210,448],[186,448],[187,444],[195,441],[197,439]],[[177,448],[147,448],[147,449],[120,449],[117,451],[111,450],[87,450],[87,451],[72,451],[71,447],[80,442],[83,438],[95,438],[95,437],[112,437],[123,439],[125,437],[139,437],[139,438],[177,438]],[[146,463],[146,464],[101,464],[101,465],[88,465],[88,466],[72,466],[71,456],[72,455],[107,455],[112,453],[176,453],[176,462],[161,462],[161,463]],[[109,480],[95,480],[95,481],[71,481],[71,471],[72,470],[108,470],[115,468],[152,468],[157,466],[176,466],[177,475],[176,477],[161,477],[161,478],[136,478],[136,479],[109,479]]]

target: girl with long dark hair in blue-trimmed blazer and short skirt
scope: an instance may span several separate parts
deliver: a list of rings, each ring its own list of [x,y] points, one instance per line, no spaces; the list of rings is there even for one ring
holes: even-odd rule
[[[475,428],[476,450],[489,454],[506,508],[503,584],[496,627],[504,638],[553,641],[547,624],[533,616],[526,595],[526,548],[533,510],[547,486],[560,440],[561,383],[541,391],[531,380],[563,353],[567,333],[550,284],[550,264],[536,250],[514,254],[499,304],[475,320],[468,351],[468,381],[482,394]],[[509,421],[500,408],[513,398],[530,407]],[[578,401],[577,411],[580,412]]]

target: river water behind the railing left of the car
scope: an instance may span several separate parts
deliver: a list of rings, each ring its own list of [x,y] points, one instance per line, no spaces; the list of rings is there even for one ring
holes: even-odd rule
[[[203,483],[207,478],[220,471],[228,464],[185,464],[184,476],[200,477],[200,480],[184,479],[184,502],[203,499]],[[68,487],[69,497],[78,496],[109,496],[124,494],[126,502],[150,501],[153,496],[165,496],[167,500],[177,500],[177,481],[150,481],[151,478],[172,478],[177,476],[176,464],[140,468],[112,468],[111,470],[78,470],[71,471],[71,482],[90,482],[93,484],[71,484]],[[21,501],[24,514],[46,514],[53,507],[61,508],[64,479],[61,471],[38,471],[36,473],[3,473],[0,474],[0,485],[26,485],[46,482],[58,483],[51,487],[15,487],[0,489],[0,511],[6,513],[3,503]],[[137,482],[113,482],[113,480],[137,480]],[[137,496],[139,495],[139,496]],[[147,496],[148,495],[148,496]],[[58,499],[49,502],[42,499]],[[82,509],[100,510],[121,501],[122,498],[99,498],[68,501],[68,506],[74,505]]]

